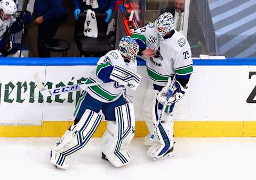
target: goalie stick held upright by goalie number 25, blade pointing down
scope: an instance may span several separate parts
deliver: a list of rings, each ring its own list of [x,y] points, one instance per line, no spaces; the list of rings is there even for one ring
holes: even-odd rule
[[[154,137],[155,137],[155,134],[156,134],[158,125],[159,125],[159,123],[160,123],[161,120],[162,120],[164,110],[165,110],[165,108],[166,108],[166,106],[167,106],[167,104],[168,104],[168,100],[169,100],[170,97],[172,97],[172,95],[173,95],[174,88],[175,88],[175,81],[176,81],[175,75],[174,75],[172,81],[171,81],[171,78],[168,79],[167,85],[170,86],[170,88],[169,88],[169,90],[168,90],[168,92],[167,92],[167,97],[166,97],[166,100],[165,100],[165,102],[164,102],[164,106],[163,106],[162,112],[161,112],[160,116],[158,117],[157,122],[156,122],[156,125],[155,125],[155,128],[154,128],[154,131],[153,131],[153,133],[152,133],[151,136],[150,136],[150,139],[149,139],[150,142],[153,142],[153,140],[154,140]]]

